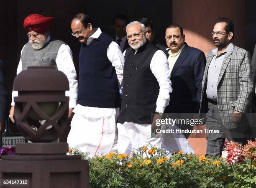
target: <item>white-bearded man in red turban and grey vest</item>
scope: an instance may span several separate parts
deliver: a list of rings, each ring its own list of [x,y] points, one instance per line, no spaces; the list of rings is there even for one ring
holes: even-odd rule
[[[77,74],[74,68],[72,51],[63,41],[56,40],[49,35],[49,28],[54,23],[54,17],[44,17],[31,14],[25,18],[23,27],[27,31],[28,43],[21,50],[17,74],[27,69],[28,66],[54,66],[62,71],[69,80],[69,119],[72,108],[77,104]],[[17,91],[13,91],[13,97]],[[14,102],[10,109],[10,119],[15,122]]]

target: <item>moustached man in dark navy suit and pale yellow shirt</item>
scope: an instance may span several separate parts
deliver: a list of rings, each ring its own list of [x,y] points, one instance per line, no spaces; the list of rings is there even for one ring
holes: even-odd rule
[[[172,23],[166,28],[166,56],[171,71],[173,91],[170,93],[169,106],[165,112],[177,113],[173,118],[182,118],[180,113],[194,114],[198,117],[202,91],[202,78],[205,70],[205,54],[185,43],[185,35],[180,25]],[[190,118],[192,118],[190,117]],[[181,125],[182,129],[192,129],[190,125]],[[190,134],[185,134],[188,137]]]

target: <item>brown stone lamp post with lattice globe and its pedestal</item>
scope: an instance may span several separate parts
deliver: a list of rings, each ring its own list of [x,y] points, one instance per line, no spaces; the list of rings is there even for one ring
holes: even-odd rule
[[[54,67],[28,67],[15,77],[13,90],[18,91],[14,98],[18,130],[32,143],[16,144],[18,155],[3,156],[0,180],[27,180],[20,188],[89,188],[88,161],[66,155],[67,143],[53,142],[67,125],[65,74]],[[17,184],[0,182],[0,187],[16,188]]]

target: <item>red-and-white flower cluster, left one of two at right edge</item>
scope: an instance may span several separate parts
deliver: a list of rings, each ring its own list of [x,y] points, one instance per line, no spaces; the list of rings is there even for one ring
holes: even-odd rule
[[[226,163],[231,165],[243,161],[242,149],[243,146],[241,144],[232,141],[227,142],[225,144],[225,151],[228,152]]]

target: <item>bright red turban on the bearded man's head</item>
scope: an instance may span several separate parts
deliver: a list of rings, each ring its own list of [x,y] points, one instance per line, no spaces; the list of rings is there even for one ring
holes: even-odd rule
[[[29,32],[29,29],[31,28],[36,33],[46,33],[53,22],[54,17],[31,14],[25,18],[23,27],[27,32]]]

